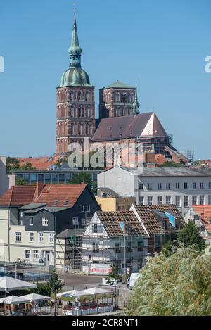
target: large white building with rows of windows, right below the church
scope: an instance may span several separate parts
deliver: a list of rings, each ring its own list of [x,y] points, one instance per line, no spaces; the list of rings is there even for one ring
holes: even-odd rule
[[[185,215],[191,205],[211,205],[211,170],[189,168],[113,167],[98,174],[98,187],[122,197],[134,196],[137,205],[174,204]]]

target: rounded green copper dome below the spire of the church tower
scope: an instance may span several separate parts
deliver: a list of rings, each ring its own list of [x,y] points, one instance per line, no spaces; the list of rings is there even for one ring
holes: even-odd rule
[[[89,75],[82,68],[69,68],[61,78],[60,87],[91,86]]]

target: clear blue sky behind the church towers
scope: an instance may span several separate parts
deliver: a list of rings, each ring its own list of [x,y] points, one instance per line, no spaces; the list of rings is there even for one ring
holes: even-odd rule
[[[70,0],[7,0],[0,6],[0,154],[56,151],[56,87],[68,68]],[[98,89],[117,79],[139,88],[180,151],[211,158],[210,0],[77,0],[82,68]]]

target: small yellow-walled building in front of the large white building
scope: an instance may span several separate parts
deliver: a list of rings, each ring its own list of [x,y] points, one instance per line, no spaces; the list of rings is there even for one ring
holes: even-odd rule
[[[109,188],[98,188],[96,201],[103,212],[127,211],[136,203],[134,197],[121,197]]]

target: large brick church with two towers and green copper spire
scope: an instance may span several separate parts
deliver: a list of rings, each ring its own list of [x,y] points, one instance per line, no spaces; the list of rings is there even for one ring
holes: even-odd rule
[[[143,143],[146,163],[188,163],[188,159],[170,144],[170,137],[154,112],[140,113],[137,86],[117,80],[99,91],[99,119],[95,116],[95,88],[82,69],[82,49],[79,46],[74,13],[70,65],[57,88],[56,153],[68,155],[68,146],[110,141]],[[156,160],[157,159],[157,160]]]

